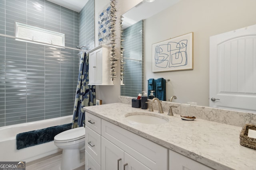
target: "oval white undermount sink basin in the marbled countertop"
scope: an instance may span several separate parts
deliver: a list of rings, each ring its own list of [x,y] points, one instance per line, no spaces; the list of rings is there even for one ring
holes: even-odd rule
[[[167,123],[169,119],[160,114],[147,113],[147,112],[132,112],[125,115],[126,119],[138,123],[146,124],[163,124]]]

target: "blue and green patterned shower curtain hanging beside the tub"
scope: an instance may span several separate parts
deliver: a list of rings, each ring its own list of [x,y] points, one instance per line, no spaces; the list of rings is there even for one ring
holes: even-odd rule
[[[78,75],[78,82],[76,88],[76,99],[74,104],[74,111],[73,111],[73,121],[72,121],[72,128],[82,127],[85,123],[85,113],[84,113],[84,106],[94,106],[96,104],[96,92],[95,86],[88,85],[88,54],[82,53],[80,66],[79,66],[79,75]]]

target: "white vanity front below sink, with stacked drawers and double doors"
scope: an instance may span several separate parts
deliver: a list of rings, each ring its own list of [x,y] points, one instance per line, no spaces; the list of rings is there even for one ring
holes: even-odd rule
[[[101,167],[101,170],[168,170],[168,149],[88,112],[85,120],[86,170],[93,170],[93,167]],[[98,135],[100,153],[96,149]]]

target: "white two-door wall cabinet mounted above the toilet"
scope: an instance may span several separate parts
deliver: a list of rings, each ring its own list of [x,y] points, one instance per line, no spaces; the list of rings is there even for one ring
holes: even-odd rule
[[[89,53],[89,85],[113,85],[110,78],[110,47],[100,45]]]

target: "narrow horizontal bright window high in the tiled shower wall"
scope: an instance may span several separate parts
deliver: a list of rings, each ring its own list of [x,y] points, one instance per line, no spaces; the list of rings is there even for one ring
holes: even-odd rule
[[[49,31],[40,27],[35,27],[31,25],[26,25],[24,23],[15,23],[16,26],[16,37],[17,40],[36,43],[48,43],[59,46],[65,46],[65,35],[63,33],[58,33],[55,31]],[[20,39],[19,39],[20,38]],[[33,42],[36,41],[36,42]]]

